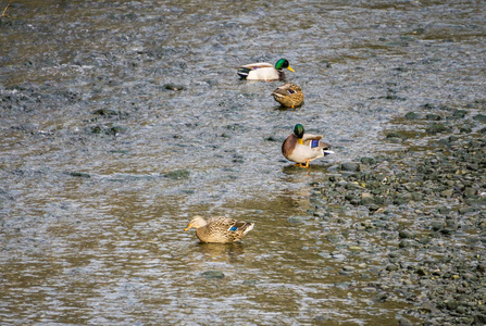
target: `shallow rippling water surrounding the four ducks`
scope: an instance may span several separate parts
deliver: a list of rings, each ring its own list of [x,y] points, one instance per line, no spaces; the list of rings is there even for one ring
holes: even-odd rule
[[[396,323],[410,308],[399,294],[376,303],[373,275],[338,274],[373,256],[331,259],[306,212],[329,166],[394,148],[394,116],[484,95],[483,4],[447,2],[13,1],[0,21],[1,323]],[[236,76],[279,58],[300,109],[273,101],[281,83]],[[290,167],[281,143],[296,123],[336,154]],[[183,231],[195,214],[256,228],[199,244]]]

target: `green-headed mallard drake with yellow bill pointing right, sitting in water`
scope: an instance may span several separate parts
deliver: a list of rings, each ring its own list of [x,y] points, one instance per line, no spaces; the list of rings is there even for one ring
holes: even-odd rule
[[[287,59],[281,59],[275,63],[275,67],[267,62],[250,63],[238,68],[238,76],[248,80],[284,80],[284,68],[295,72],[288,64]]]

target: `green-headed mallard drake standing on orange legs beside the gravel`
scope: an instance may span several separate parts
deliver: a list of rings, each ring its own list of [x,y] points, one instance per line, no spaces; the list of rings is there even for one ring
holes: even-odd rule
[[[300,167],[309,167],[309,162],[324,155],[333,154],[331,145],[320,141],[321,135],[304,134],[303,126],[297,124],[294,134],[285,139],[282,153],[287,160],[294,161]]]

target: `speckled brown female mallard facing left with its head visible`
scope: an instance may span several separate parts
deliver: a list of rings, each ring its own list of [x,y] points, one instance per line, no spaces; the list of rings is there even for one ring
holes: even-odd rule
[[[254,223],[236,221],[224,216],[210,217],[204,221],[201,216],[195,216],[184,229],[196,228],[196,236],[202,242],[229,243],[240,240],[253,229]]]

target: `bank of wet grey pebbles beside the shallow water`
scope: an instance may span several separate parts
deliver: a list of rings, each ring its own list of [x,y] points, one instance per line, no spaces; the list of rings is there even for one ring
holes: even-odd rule
[[[385,134],[400,150],[331,166],[313,185],[309,214],[331,255],[359,256],[340,274],[360,273],[375,302],[412,304],[399,325],[486,323],[485,106],[409,112]]]

